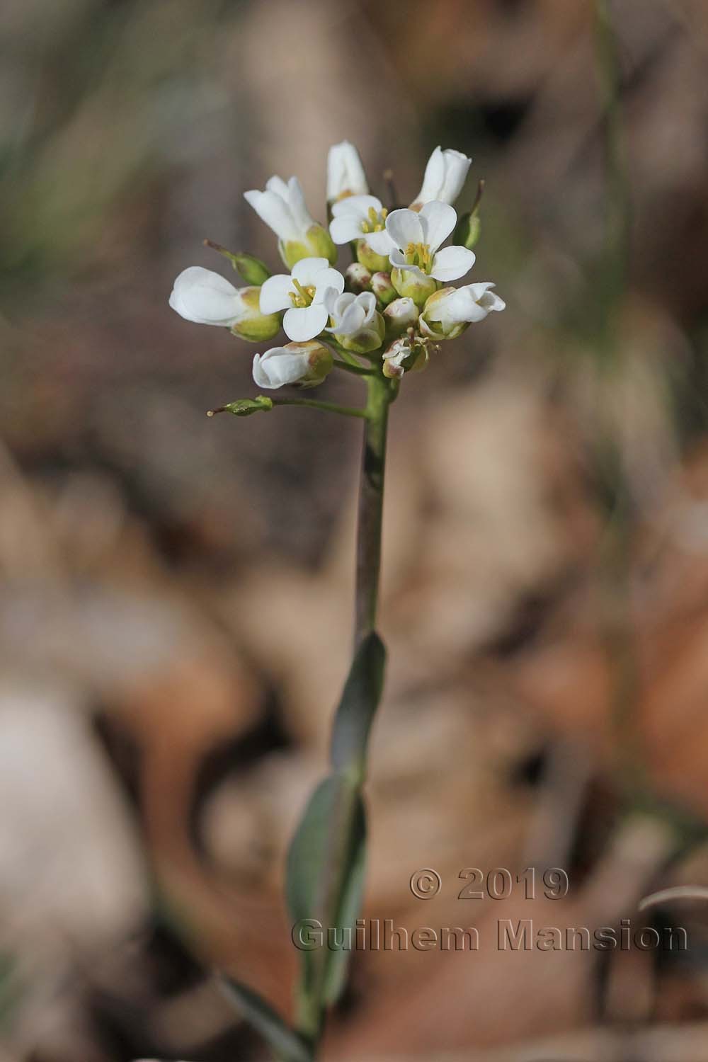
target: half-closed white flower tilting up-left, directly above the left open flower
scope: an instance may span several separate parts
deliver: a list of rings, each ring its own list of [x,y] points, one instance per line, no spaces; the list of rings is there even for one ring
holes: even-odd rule
[[[255,189],[243,193],[261,221],[278,237],[280,257],[291,269],[300,258],[324,255],[336,261],[336,249],[329,233],[311,217],[297,177],[288,184],[281,177],[271,177],[265,191]]]

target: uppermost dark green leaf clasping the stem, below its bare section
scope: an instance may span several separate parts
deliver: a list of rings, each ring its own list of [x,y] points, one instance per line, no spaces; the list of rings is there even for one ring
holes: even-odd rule
[[[330,759],[334,770],[363,772],[366,742],[381,700],[386,651],[376,632],[362,641],[334,716]]]

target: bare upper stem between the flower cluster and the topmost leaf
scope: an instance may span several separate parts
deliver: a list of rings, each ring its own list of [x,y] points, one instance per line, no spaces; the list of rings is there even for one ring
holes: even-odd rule
[[[368,400],[359,486],[355,651],[366,635],[376,629],[381,570],[386,428],[388,406],[395,397],[391,381],[378,373],[367,378],[366,383]]]

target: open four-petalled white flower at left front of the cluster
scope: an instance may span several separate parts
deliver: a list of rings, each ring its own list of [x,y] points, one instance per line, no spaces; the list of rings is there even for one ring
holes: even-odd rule
[[[325,292],[333,288],[344,291],[344,277],[331,269],[326,258],[303,258],[290,276],[270,276],[260,290],[261,313],[277,313],[287,309],[282,327],[289,339],[306,341],[318,336],[327,325]]]

